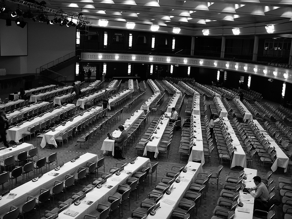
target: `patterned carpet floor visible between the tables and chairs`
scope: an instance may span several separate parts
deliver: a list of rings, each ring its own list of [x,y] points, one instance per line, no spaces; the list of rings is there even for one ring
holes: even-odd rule
[[[121,89],[122,88],[123,88],[123,84],[121,86]],[[152,90],[147,85],[145,100],[148,99],[152,94],[153,94]],[[167,96],[166,96],[166,98],[167,98]],[[130,100],[129,100],[129,102],[130,102]],[[129,113],[127,112],[127,110],[124,110],[123,111],[123,120],[121,120],[117,124],[113,125],[113,127],[111,128],[111,130],[109,130],[109,132],[110,133],[113,132],[116,129],[116,127],[118,125],[120,125],[126,118],[128,118],[135,110],[140,109],[142,103],[143,103],[143,101],[139,105],[137,105],[134,109],[132,109]],[[182,117],[182,120],[185,116],[186,103],[187,103],[187,99],[184,100],[182,110],[179,113],[179,115]],[[156,113],[156,115],[158,115],[158,114],[159,114],[159,111]],[[206,114],[208,116],[210,115],[209,109],[207,110]],[[110,112],[108,113],[108,115],[110,115]],[[150,121],[156,115],[155,114],[150,115]],[[147,129],[147,126],[146,126],[146,129]],[[141,135],[138,137],[138,139],[140,139],[142,135],[143,135],[143,133],[141,133]],[[90,141],[90,148],[86,149],[86,152],[97,154],[99,158],[103,157],[102,151],[100,149],[101,149],[102,142],[106,137],[107,137],[106,135],[102,135],[100,137],[100,140],[97,140],[97,142],[95,141],[93,145],[92,145],[92,142]],[[159,166],[158,166],[158,170],[157,170],[157,181],[155,181],[155,177],[153,177],[153,184],[151,186],[151,177],[150,177],[150,179],[148,179],[149,185],[147,185],[147,183],[145,184],[146,186],[145,186],[144,193],[142,193],[142,189],[140,188],[140,198],[138,198],[137,201],[135,200],[135,195],[131,194],[130,211],[129,211],[128,203],[125,202],[124,208],[123,208],[123,211],[124,211],[123,218],[128,218],[131,216],[131,212],[140,206],[141,201],[146,198],[148,192],[150,192],[154,188],[156,182],[158,183],[161,180],[161,178],[163,176],[165,176],[167,171],[171,170],[172,166],[179,166],[179,165],[187,164],[187,160],[188,160],[187,156],[182,156],[181,159],[179,160],[178,149],[179,149],[179,145],[180,145],[180,140],[181,140],[181,133],[180,133],[180,131],[176,131],[176,133],[174,134],[172,143],[171,143],[170,153],[169,153],[167,160],[166,160],[165,154],[158,156],[157,160],[159,161]],[[29,140],[25,139],[25,142],[29,143]],[[36,140],[33,139],[32,144],[36,146]],[[39,144],[39,142],[38,142],[38,144]],[[137,156],[137,154],[135,155],[134,146],[135,146],[135,144],[133,144],[133,146],[130,148],[130,150],[127,151],[127,154],[125,155],[126,159],[131,159],[131,158],[134,158],[135,156]],[[58,147],[58,148],[53,149],[53,150],[51,150],[49,148],[41,149],[39,145],[38,145],[38,148],[39,148],[39,157],[47,157],[53,152],[58,152],[58,163],[61,163],[63,161],[69,162],[69,160],[74,158],[76,155],[80,155],[82,153],[85,153],[84,146],[82,146],[82,148],[79,148],[79,145],[76,146],[75,139],[73,140],[73,142],[71,140],[69,140],[68,147],[65,146],[65,144],[64,144],[64,150],[62,150],[62,147]],[[141,156],[141,155],[142,154],[140,152],[139,156]],[[150,154],[148,156],[150,158]],[[269,168],[269,166],[265,166],[264,170],[262,171],[262,166],[259,166],[259,162],[257,160],[258,160],[258,157],[255,157],[253,168],[258,170],[259,176],[265,176],[266,173],[270,170],[270,168]],[[125,161],[127,161],[127,160],[125,160]],[[114,159],[113,157],[105,156],[105,171],[107,172],[107,171],[109,171],[109,169],[111,167],[115,167],[115,164],[117,162],[120,162],[120,161]],[[206,162],[203,166],[203,171],[205,171],[205,172],[216,171],[217,167],[219,165],[220,165],[220,163],[218,160],[217,151],[214,150],[213,154],[212,154],[211,165],[208,162],[208,160],[206,160]],[[220,195],[220,191],[223,188],[223,184],[225,182],[226,176],[228,175],[228,173],[230,171],[240,171],[242,169],[242,168],[241,169],[240,168],[238,168],[238,169],[233,168],[233,170],[230,170],[229,163],[227,163],[227,162],[226,163],[223,162],[222,165],[223,165],[223,171],[221,172],[221,175],[219,177],[219,189],[217,190],[217,185],[214,184],[216,182],[210,180],[210,185],[209,185],[209,189],[207,192],[207,197],[202,199],[202,205],[198,208],[197,216],[195,216],[195,218],[211,218],[213,216],[213,210],[214,210],[215,206],[217,205],[217,200],[218,200],[218,197]],[[102,169],[102,168],[100,168],[100,169]],[[284,174],[283,169],[278,168],[278,170],[275,173],[273,173],[272,177],[274,178],[274,184],[276,184],[276,189],[279,188],[279,186],[278,186],[279,184],[277,181],[278,176],[283,176],[283,175],[290,175],[291,176],[291,172],[289,172],[289,174],[288,173]],[[28,180],[26,180],[26,181],[28,181]],[[18,182],[20,182],[20,181],[21,180],[18,180]],[[13,183],[15,183],[15,181],[13,181]],[[83,185],[85,185],[85,180],[81,181],[81,186],[83,186]],[[8,188],[9,188],[9,186],[7,183],[4,186],[4,190],[6,190]],[[77,190],[77,186],[76,186],[76,190]],[[67,190],[67,197],[69,196],[68,194],[72,193],[72,192],[74,192],[72,188],[69,190],[69,192]],[[279,199],[279,192],[275,191],[275,193],[276,193],[276,198]],[[59,194],[55,197],[55,203],[57,201],[63,201],[62,194]],[[45,203],[44,206],[41,206],[41,215],[42,216],[44,216],[45,210],[49,210],[49,203]],[[282,217],[281,206],[275,207],[274,210],[276,211],[275,218],[281,218]],[[35,218],[35,214],[30,213],[28,218]],[[37,218],[38,218],[38,214],[37,214]],[[118,211],[112,212],[111,218],[117,219],[118,218]]]

